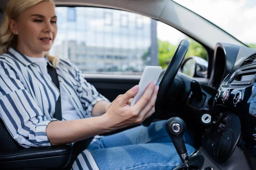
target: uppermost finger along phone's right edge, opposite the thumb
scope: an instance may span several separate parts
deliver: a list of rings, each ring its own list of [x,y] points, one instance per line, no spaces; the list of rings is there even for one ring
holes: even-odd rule
[[[151,95],[155,89],[155,82],[151,82],[148,85],[148,88],[146,89],[146,91],[144,92],[143,96],[139,99],[139,101],[134,105],[135,108],[137,108],[139,111],[141,111],[145,105],[149,102],[149,100],[151,99]],[[150,110],[148,110],[150,111]]]

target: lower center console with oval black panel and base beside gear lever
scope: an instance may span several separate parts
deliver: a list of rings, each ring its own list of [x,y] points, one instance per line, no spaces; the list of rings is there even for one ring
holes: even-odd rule
[[[205,130],[202,146],[174,170],[251,170],[244,151],[237,146],[240,142],[239,117],[221,112]]]

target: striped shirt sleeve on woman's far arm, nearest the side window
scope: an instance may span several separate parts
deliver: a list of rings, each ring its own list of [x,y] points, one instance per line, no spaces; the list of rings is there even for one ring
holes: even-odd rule
[[[91,115],[93,106],[97,102],[102,100],[109,102],[109,100],[102,96],[102,94],[100,94],[93,85],[84,79],[82,71],[79,70],[77,66],[73,65],[73,68],[75,70],[76,82],[78,84],[80,101],[83,104],[86,113]]]

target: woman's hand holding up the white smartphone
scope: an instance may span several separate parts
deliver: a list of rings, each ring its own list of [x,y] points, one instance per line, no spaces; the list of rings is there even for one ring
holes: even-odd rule
[[[154,105],[157,99],[159,86],[154,87],[155,82],[148,85],[143,96],[133,106],[131,99],[138,93],[138,85],[119,95],[111,103],[108,111],[102,115],[108,125],[108,130],[116,130],[129,125],[140,124],[154,113]]]

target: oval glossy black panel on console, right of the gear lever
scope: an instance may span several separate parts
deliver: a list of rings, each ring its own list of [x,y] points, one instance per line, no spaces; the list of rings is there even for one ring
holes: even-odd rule
[[[212,160],[223,163],[230,158],[240,140],[239,117],[230,112],[221,112],[205,130],[202,147]]]

